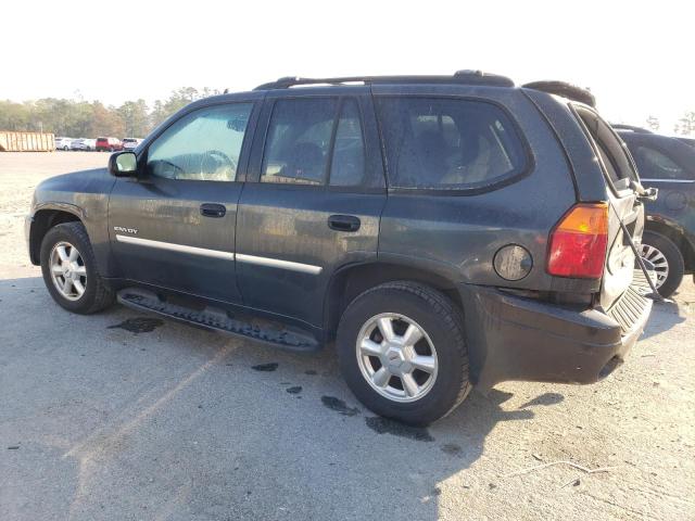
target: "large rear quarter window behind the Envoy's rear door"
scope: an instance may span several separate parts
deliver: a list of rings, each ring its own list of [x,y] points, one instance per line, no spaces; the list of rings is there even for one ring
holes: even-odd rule
[[[526,169],[522,142],[496,105],[399,97],[378,106],[391,187],[475,189]]]

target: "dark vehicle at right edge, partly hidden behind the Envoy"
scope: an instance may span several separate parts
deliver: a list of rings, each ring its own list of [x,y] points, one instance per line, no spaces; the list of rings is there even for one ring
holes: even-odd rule
[[[642,258],[657,274],[656,285],[670,296],[683,275],[695,272],[695,148],[683,139],[617,125],[645,187],[659,189],[646,203]]]

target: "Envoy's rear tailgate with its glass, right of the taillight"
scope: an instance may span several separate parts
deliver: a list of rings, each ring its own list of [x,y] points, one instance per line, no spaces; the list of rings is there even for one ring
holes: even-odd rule
[[[632,188],[639,177],[622,140],[591,109],[573,109],[590,137],[608,187],[608,252],[601,290],[601,305],[608,309],[632,283],[635,269],[634,252],[620,223],[639,244],[644,231],[644,205]]]

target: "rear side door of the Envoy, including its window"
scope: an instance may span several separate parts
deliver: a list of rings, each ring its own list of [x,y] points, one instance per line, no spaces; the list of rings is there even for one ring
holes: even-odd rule
[[[244,305],[315,327],[336,270],[376,258],[386,202],[368,90],[327,92],[268,93],[237,225]]]

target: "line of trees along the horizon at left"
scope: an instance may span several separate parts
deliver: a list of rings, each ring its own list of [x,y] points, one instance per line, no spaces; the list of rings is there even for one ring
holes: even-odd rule
[[[53,132],[71,138],[98,136],[143,138],[191,101],[219,91],[182,87],[152,106],[142,99],[104,105],[100,101],[43,98],[22,103],[0,100],[0,130]]]

